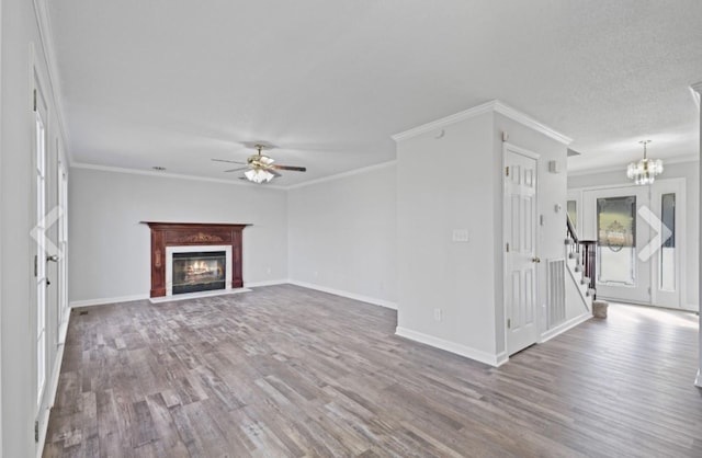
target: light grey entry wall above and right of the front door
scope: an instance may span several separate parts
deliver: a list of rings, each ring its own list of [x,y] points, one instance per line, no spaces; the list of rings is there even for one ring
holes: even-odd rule
[[[700,168],[698,162],[664,163],[665,170],[660,180],[683,178],[686,181],[686,304],[691,308],[699,307],[699,272],[700,260],[697,253],[700,247]],[[627,185],[625,165],[622,170],[596,172],[568,176],[568,188],[589,186]]]

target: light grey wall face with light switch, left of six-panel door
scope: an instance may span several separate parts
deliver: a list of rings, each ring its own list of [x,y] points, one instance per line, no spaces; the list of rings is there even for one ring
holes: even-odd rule
[[[494,193],[500,176],[494,115],[442,129],[397,146],[397,332],[489,359],[497,353],[495,244],[501,240],[501,227],[494,227],[501,208],[501,192],[497,201]],[[453,242],[453,229],[467,229],[469,242]]]

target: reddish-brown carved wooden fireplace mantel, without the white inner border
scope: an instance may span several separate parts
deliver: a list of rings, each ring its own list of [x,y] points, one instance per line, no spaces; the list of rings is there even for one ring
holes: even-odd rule
[[[241,236],[251,225],[141,221],[151,228],[151,297],[166,296],[166,247],[230,245],[231,287],[244,286]]]

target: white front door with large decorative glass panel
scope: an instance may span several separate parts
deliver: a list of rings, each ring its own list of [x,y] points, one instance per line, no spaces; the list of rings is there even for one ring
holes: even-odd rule
[[[648,186],[582,193],[582,239],[597,240],[598,298],[650,304],[650,263],[642,249],[650,239]]]

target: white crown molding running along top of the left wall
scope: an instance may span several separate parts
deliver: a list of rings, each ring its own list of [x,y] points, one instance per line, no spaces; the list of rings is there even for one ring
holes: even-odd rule
[[[70,145],[68,129],[66,128],[66,123],[64,122],[64,103],[60,94],[60,79],[58,67],[56,66],[55,59],[55,46],[54,46],[54,35],[52,34],[52,24],[47,11],[46,0],[34,0],[32,2],[34,4],[34,18],[36,19],[36,26],[38,28],[39,41],[42,42],[42,56],[44,57],[44,62],[46,64],[46,72],[48,73],[48,84],[50,88],[50,96],[54,102],[54,106],[56,107],[56,119],[58,121],[58,129],[61,134],[61,144],[64,154],[66,157],[66,161],[68,162],[68,167],[72,164],[72,157],[70,154],[70,149],[67,148],[67,145]]]

